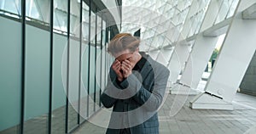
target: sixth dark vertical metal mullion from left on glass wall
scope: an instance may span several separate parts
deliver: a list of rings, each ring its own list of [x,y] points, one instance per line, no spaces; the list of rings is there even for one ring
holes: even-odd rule
[[[97,8],[96,8],[96,13],[97,13]],[[94,53],[94,55],[95,55],[95,57],[94,57],[94,59],[95,59],[95,61],[94,61],[94,68],[95,68],[95,71],[94,71],[94,94],[93,94],[93,101],[94,101],[94,103],[93,103],[93,111],[95,112],[96,111],[96,55],[97,55],[97,17],[98,15],[97,14],[95,14],[95,17],[96,17],[96,19],[95,19],[95,53]]]

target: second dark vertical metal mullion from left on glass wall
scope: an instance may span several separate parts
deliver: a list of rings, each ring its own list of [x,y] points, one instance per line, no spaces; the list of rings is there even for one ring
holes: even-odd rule
[[[49,113],[48,113],[48,133],[51,133],[51,114],[52,114],[52,87],[53,87],[53,21],[54,21],[54,0],[50,0],[49,8]]]

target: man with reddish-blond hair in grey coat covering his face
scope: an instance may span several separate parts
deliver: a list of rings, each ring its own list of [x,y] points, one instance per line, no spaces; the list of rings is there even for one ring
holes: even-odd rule
[[[108,53],[115,58],[102,104],[112,108],[107,134],[158,134],[157,110],[162,103],[169,70],[139,52],[140,41],[128,33],[114,36]]]

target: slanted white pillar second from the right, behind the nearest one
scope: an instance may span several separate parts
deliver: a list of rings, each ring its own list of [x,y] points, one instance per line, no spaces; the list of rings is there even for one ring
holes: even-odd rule
[[[196,89],[201,81],[201,75],[203,74],[216,43],[218,42],[218,36],[207,37],[202,34],[198,35],[195,40],[195,44],[189,55],[188,62],[183,70],[180,83],[185,87],[180,88],[179,91],[182,94],[198,94],[193,89]],[[192,90],[191,90],[192,89]],[[189,90],[189,91],[188,91]],[[172,91],[177,92],[177,91]]]

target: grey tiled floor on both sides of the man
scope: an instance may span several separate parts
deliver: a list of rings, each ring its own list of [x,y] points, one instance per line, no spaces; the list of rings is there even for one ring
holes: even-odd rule
[[[194,96],[171,95],[159,111],[160,134],[256,133],[256,97],[236,93],[234,110],[190,109]],[[175,103],[173,103],[175,102]],[[181,108],[180,110],[178,110]],[[171,113],[170,113],[171,111]],[[102,114],[100,111],[92,118]],[[107,115],[106,115],[107,116]],[[109,118],[97,119],[108,122]],[[85,122],[74,134],[102,134],[106,128]],[[250,131],[250,132],[249,132]]]

